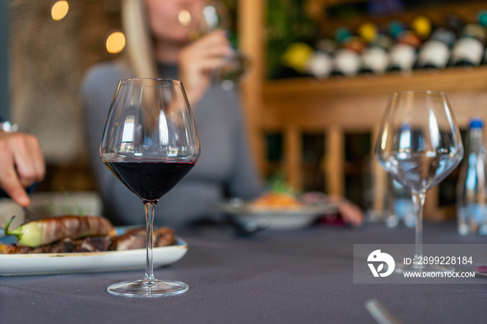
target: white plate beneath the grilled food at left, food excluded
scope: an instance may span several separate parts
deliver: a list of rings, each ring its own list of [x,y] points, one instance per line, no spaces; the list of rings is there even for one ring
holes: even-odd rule
[[[177,244],[154,248],[154,268],[178,261],[188,250],[187,243],[176,237]],[[0,242],[10,243],[10,237]],[[0,254],[0,275],[54,275],[59,273],[97,273],[145,269],[145,249],[88,253]]]

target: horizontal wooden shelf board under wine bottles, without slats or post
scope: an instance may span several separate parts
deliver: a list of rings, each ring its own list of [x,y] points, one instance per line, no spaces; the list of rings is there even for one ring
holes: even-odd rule
[[[446,92],[461,126],[473,115],[487,118],[487,67],[477,67],[470,71],[451,68],[436,73],[415,71],[324,81],[267,81],[259,123],[265,129],[289,124],[307,129],[337,124],[344,129],[370,129],[380,121],[390,94],[407,90]]]

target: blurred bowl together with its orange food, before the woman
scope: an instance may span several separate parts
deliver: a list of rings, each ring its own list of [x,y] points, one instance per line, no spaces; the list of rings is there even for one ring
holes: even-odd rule
[[[244,202],[232,198],[230,202],[216,205],[236,222],[265,221],[269,229],[302,229],[309,227],[319,217],[337,212],[337,204],[324,200],[301,200],[289,193],[266,192],[255,200]]]

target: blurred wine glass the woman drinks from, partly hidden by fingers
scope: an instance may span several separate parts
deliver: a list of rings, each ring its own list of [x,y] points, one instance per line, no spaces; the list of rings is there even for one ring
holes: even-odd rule
[[[198,1],[187,10],[178,15],[179,22],[189,28],[189,38],[197,40],[203,35],[216,29],[230,29],[230,13],[225,5],[219,1]],[[221,81],[225,90],[230,90],[235,81],[239,81],[250,67],[248,56],[241,51],[234,50],[230,56],[225,57],[225,64],[215,69],[214,79]]]

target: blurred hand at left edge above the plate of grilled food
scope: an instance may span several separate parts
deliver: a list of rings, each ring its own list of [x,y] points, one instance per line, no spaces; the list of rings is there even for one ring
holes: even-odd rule
[[[25,188],[44,179],[45,172],[44,154],[35,136],[0,132],[0,187],[13,201],[29,206]]]

